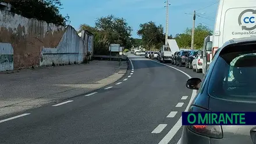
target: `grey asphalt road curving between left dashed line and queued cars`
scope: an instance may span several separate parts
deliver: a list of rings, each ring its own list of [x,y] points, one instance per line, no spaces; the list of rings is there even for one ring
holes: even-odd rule
[[[0,117],[0,143],[177,143],[192,70],[129,56],[128,73],[97,91]]]

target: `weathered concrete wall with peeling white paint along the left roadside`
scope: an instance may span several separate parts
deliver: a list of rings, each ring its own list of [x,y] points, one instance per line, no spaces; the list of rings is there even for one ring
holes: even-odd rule
[[[87,41],[72,26],[55,26],[0,10],[0,71],[52,62],[81,63],[87,55]]]

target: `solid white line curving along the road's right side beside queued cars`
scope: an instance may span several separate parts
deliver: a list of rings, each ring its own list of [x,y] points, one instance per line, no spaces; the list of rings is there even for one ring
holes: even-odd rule
[[[152,61],[155,62],[155,63],[159,63],[159,62],[156,62],[154,60],[152,60]],[[159,64],[162,64],[164,66],[168,66],[172,69],[180,71],[180,73],[183,73],[184,75],[187,75],[187,77],[191,78],[191,76],[189,74],[185,73],[182,70],[176,69],[175,67],[169,66],[167,64],[163,64],[163,63],[159,63]],[[189,100],[189,104],[187,105],[185,111],[189,110],[189,107],[190,107],[191,103],[193,102],[196,94],[197,94],[197,90],[193,90],[193,92],[191,94],[191,97],[190,97],[190,100]],[[168,144],[172,140],[173,136],[175,136],[175,134],[177,133],[177,131],[179,131],[179,129],[181,127],[182,127],[182,117],[179,118],[177,123],[172,127],[172,129],[170,129],[168,134],[166,134],[165,137],[163,137],[163,139],[158,144]]]

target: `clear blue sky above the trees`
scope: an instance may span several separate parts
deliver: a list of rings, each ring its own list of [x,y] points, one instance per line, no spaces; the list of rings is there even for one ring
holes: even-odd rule
[[[132,37],[136,34],[141,23],[154,21],[157,25],[166,27],[166,0],[61,0],[62,15],[70,16],[70,25],[79,29],[80,24],[94,26],[99,17],[115,15],[126,19],[133,28]],[[175,36],[183,33],[187,27],[193,26],[193,12],[197,17],[195,26],[202,23],[214,29],[217,0],[169,0],[168,34]],[[164,30],[165,31],[165,30]]]

